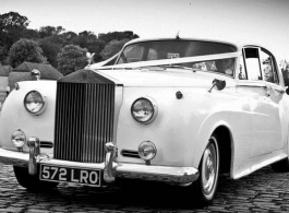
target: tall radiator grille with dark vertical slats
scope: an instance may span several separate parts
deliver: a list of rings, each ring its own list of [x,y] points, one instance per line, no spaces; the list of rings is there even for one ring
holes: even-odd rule
[[[101,163],[112,141],[115,84],[58,82],[55,123],[57,159]]]

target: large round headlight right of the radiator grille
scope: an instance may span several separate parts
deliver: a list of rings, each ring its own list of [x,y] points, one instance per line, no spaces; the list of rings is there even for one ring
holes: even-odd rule
[[[132,104],[131,114],[134,120],[147,125],[155,120],[157,105],[149,97],[141,97]]]

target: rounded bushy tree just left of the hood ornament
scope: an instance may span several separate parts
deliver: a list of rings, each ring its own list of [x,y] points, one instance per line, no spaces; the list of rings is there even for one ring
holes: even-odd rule
[[[58,70],[63,74],[70,74],[76,70],[85,68],[87,49],[75,45],[67,45],[58,54]]]

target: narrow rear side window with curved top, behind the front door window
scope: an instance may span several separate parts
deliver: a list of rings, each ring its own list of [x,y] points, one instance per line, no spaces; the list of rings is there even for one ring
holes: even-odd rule
[[[278,74],[275,67],[274,57],[266,51],[261,49],[260,51],[261,70],[263,72],[264,81],[278,84]]]

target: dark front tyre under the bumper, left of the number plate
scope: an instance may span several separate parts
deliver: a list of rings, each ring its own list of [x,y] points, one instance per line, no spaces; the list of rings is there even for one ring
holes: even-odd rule
[[[36,175],[29,175],[28,168],[26,167],[13,166],[13,169],[19,184],[28,190],[50,190],[58,186],[58,182],[39,180],[38,173]]]

